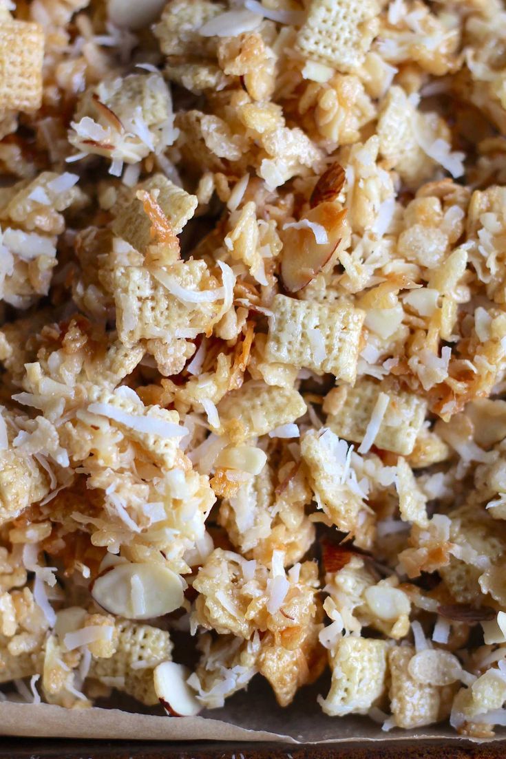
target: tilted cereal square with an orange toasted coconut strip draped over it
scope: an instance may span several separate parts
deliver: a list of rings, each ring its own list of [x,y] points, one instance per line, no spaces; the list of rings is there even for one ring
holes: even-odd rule
[[[112,231],[118,237],[126,240],[139,253],[144,254],[147,247],[153,243],[152,222],[144,211],[141,200],[135,197],[138,190],[145,190],[156,197],[157,205],[162,209],[176,235],[179,235],[182,228],[194,215],[198,200],[163,174],[154,174],[147,181],[136,185],[132,191],[131,203],[121,206],[114,222],[112,222]],[[153,191],[158,192],[153,194]]]

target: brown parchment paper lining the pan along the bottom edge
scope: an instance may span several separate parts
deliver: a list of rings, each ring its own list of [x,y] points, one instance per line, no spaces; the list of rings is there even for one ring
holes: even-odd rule
[[[253,687],[254,686],[254,687]],[[324,688],[319,688],[324,690]],[[233,696],[223,709],[198,717],[150,716],[119,709],[65,710],[47,704],[0,704],[0,734],[49,738],[129,739],[160,741],[273,741],[327,743],[462,741],[445,726],[415,731],[382,732],[365,717],[329,717],[318,704],[318,688],[302,688],[292,707],[277,707],[267,683],[258,679],[248,692]],[[495,740],[504,739],[506,733]]]

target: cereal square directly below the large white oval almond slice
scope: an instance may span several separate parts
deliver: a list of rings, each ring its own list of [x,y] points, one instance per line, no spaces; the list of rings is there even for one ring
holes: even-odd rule
[[[106,684],[110,682],[109,678],[119,678],[115,688],[125,691],[146,706],[158,704],[153,685],[153,669],[162,662],[172,660],[169,633],[125,619],[116,622],[116,629],[116,652],[107,659],[93,657],[89,676]],[[121,679],[124,679],[124,684]]]

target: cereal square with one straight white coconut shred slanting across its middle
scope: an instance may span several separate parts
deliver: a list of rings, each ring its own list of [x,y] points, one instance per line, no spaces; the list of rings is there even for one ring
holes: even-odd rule
[[[385,384],[360,378],[354,387],[343,389],[346,397],[337,414],[328,414],[327,425],[338,436],[362,442],[381,392],[390,399],[374,444],[393,453],[409,455],[422,429],[427,402],[411,392],[394,392]]]

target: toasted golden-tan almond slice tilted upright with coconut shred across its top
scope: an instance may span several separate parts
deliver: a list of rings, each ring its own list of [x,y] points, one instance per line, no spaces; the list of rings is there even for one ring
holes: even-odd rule
[[[296,292],[309,284],[330,260],[343,237],[346,209],[334,203],[320,203],[305,216],[324,227],[327,242],[318,244],[311,228],[288,228],[283,236],[281,278],[287,291]]]

